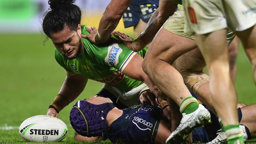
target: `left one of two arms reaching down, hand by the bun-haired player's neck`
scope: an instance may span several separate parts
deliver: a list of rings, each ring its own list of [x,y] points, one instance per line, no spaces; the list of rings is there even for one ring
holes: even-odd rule
[[[98,30],[87,29],[90,35],[82,35],[82,37],[89,39],[94,44],[108,41],[111,37],[111,32],[115,30],[124,11],[131,2],[132,0],[111,0],[100,19]]]

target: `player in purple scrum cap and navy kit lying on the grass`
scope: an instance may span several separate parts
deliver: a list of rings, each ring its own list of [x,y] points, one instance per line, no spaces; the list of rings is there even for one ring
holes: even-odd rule
[[[256,105],[239,108],[244,138],[256,137],[252,109]],[[165,111],[165,109],[163,109]],[[250,114],[249,114],[250,113]],[[163,120],[159,106],[140,104],[118,109],[109,98],[92,97],[76,102],[70,112],[70,123],[81,141],[98,141],[109,138],[120,143],[163,143],[171,134],[171,125]],[[209,142],[221,128],[218,118],[211,112],[211,124],[193,130],[190,142]],[[251,135],[252,134],[252,135]],[[191,139],[192,138],[192,139]]]

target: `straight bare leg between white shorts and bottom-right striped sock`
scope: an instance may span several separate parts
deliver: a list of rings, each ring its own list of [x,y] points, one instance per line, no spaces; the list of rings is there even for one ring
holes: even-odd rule
[[[196,42],[209,69],[209,90],[215,110],[223,125],[236,125],[237,95],[230,78],[226,29],[195,35]]]

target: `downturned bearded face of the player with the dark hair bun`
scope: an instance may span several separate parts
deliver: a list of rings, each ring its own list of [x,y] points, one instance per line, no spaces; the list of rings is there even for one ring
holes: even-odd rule
[[[65,27],[60,32],[51,33],[50,38],[61,54],[67,59],[74,59],[83,52],[82,40],[78,33],[81,33],[80,25],[78,26],[78,31],[72,31],[70,28]]]

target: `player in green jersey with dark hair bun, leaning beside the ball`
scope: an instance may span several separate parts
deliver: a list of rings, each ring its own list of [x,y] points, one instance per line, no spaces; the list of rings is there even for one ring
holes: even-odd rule
[[[105,91],[104,96],[114,95],[115,102],[121,101],[122,106],[136,104],[146,84],[152,88],[141,67],[146,49],[136,53],[114,36],[101,45],[83,39],[81,33],[86,35],[86,29],[94,28],[80,25],[81,11],[73,2],[49,0],[51,10],[43,19],[43,31],[56,47],[56,61],[67,72],[47,115],[58,116],[58,112],[83,91],[87,79],[105,83],[103,89],[108,92]]]

